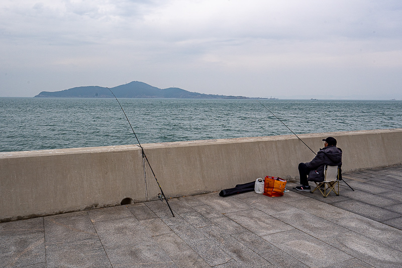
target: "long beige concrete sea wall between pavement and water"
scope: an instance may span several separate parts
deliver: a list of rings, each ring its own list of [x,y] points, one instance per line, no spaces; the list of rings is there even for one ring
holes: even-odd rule
[[[402,129],[298,135],[314,151],[333,136],[344,172],[402,163]],[[220,191],[258,177],[298,180],[315,155],[294,135],[143,144],[165,195]],[[0,153],[0,222],[157,199],[136,145]],[[146,191],[147,189],[147,191]]]

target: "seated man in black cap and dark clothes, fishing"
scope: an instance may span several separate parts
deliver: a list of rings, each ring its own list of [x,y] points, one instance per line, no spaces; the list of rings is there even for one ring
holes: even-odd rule
[[[342,165],[342,150],[336,147],[336,139],[328,137],[323,139],[323,141],[325,141],[324,148],[318,151],[313,160],[298,164],[300,186],[295,188],[297,191],[310,192],[309,181],[323,182],[325,165]]]

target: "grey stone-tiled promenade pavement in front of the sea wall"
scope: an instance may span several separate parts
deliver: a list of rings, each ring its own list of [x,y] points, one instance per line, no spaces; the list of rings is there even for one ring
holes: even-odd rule
[[[344,179],[327,198],[170,199],[174,218],[152,201],[1,223],[0,267],[401,267],[402,166]]]

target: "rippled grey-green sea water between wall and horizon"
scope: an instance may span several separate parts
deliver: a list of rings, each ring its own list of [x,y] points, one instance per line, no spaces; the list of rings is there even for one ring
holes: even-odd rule
[[[119,101],[141,144],[402,128],[401,101]],[[138,143],[115,99],[0,98],[0,107],[2,152]]]

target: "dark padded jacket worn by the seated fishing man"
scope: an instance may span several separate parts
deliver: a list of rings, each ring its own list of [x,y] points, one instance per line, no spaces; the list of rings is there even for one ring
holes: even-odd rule
[[[342,165],[341,148],[331,145],[320,149],[316,157],[306,163],[306,166],[312,169],[309,173],[308,180],[311,182],[323,182],[325,165]]]

